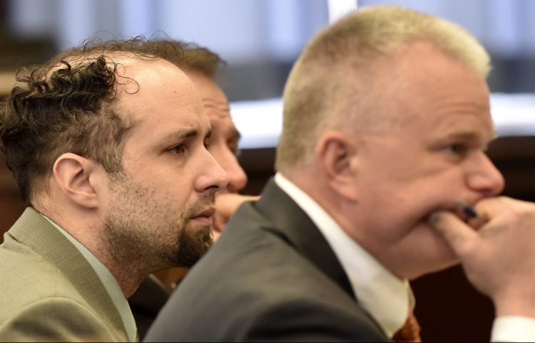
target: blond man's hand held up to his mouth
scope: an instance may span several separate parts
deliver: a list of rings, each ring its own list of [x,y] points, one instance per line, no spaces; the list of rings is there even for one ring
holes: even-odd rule
[[[488,221],[474,229],[454,213],[429,218],[461,260],[468,280],[491,297],[496,315],[535,317],[535,204],[506,197],[479,201]]]

